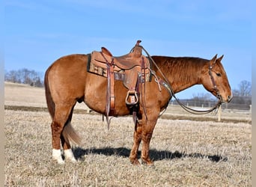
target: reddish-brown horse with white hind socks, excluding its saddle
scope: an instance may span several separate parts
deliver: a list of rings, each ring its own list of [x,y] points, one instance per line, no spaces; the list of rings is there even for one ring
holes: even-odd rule
[[[45,73],[45,93],[49,114],[52,117],[52,159],[59,164],[77,162],[70,143],[79,144],[80,138],[71,126],[76,102],[85,104],[100,114],[106,114],[107,79],[87,71],[89,54],[73,54],[58,58]],[[165,110],[174,93],[193,85],[204,88],[221,102],[232,99],[228,76],[222,66],[223,55],[210,60],[195,57],[151,56],[155,64],[151,67],[156,79],[141,83],[140,100],[133,132],[133,145],[129,160],[133,165],[153,165],[149,156],[150,139],[159,114]],[[165,85],[159,82],[165,82]],[[170,91],[171,90],[171,91]],[[127,88],[115,80],[115,111],[113,116],[127,116],[131,109],[125,99]],[[141,144],[141,162],[138,147]],[[64,150],[64,159],[61,155]]]

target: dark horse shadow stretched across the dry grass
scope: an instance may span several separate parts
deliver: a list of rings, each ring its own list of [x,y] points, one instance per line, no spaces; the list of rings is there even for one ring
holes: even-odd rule
[[[118,148],[112,148],[112,147],[103,147],[103,148],[90,148],[90,149],[82,149],[80,147],[76,147],[73,149],[74,156],[76,159],[81,159],[82,156],[88,155],[88,154],[102,154],[106,156],[123,156],[123,157],[129,157],[129,152],[131,150],[127,149],[126,147],[118,147]],[[141,156],[141,151],[138,151],[138,158]],[[153,161],[159,161],[163,159],[181,159],[185,157],[191,157],[191,158],[199,158],[199,159],[210,159],[212,162],[226,162],[228,161],[227,157],[222,157],[219,155],[204,155],[201,153],[180,153],[178,151],[175,151],[174,153],[168,151],[168,150],[150,150],[150,159]]]

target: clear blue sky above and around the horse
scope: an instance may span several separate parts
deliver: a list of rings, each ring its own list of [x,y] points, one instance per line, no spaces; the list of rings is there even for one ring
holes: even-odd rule
[[[124,55],[142,40],[150,55],[224,55],[231,88],[252,82],[252,1],[8,0],[4,70],[45,72],[63,55],[106,46]],[[178,94],[207,93],[202,86]]]

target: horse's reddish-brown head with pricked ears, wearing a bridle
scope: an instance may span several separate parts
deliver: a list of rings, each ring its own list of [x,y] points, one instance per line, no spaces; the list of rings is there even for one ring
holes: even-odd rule
[[[230,102],[232,99],[232,91],[228,82],[228,76],[221,63],[222,58],[223,55],[219,58],[215,55],[213,59],[209,61],[209,64],[204,67],[201,81],[204,88],[221,99],[222,102]]]

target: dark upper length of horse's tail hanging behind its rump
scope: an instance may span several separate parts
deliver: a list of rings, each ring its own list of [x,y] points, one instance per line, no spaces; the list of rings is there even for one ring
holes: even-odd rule
[[[45,88],[45,93],[46,93],[46,103],[47,103],[47,108],[49,111],[49,114],[51,115],[52,119],[55,114],[55,103],[52,100],[52,94],[49,88],[49,80],[48,80],[48,73],[49,73],[50,67],[48,70],[46,70],[45,76],[44,76],[44,88]]]

